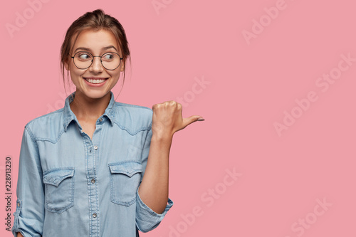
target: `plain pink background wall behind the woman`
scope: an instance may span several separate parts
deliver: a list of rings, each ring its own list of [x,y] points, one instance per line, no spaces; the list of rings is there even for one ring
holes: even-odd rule
[[[142,236],[355,236],[356,62],[340,62],[342,54],[356,58],[355,3],[153,2],[164,7],[152,0],[51,0],[36,11],[25,0],[1,4],[0,235],[11,236],[5,157],[13,218],[23,127],[63,107],[64,34],[101,8],[122,23],[132,51],[117,100],[152,107],[183,98],[184,117],[205,118],[174,135],[174,206]],[[6,25],[24,14],[27,22],[9,33]],[[329,73],[337,79],[320,78]],[[306,102],[310,92],[314,101]],[[278,134],[276,122],[288,129]],[[226,177],[226,169],[239,177]]]

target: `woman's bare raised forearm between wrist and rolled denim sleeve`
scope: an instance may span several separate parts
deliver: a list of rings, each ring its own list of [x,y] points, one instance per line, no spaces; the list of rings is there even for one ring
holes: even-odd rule
[[[167,206],[171,144],[172,136],[152,134],[145,175],[138,190],[142,201],[157,214]]]

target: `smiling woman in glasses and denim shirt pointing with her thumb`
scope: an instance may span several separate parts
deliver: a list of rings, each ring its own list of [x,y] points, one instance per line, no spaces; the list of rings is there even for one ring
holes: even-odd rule
[[[183,118],[174,101],[152,110],[115,102],[128,58],[124,29],[102,10],[68,28],[61,67],[76,90],[61,110],[25,126],[14,236],[138,236],[172,207],[172,137],[204,119]]]

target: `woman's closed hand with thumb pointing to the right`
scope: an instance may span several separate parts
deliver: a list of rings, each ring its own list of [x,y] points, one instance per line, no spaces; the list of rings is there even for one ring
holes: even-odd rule
[[[174,100],[152,106],[152,133],[172,137],[174,132],[184,129],[192,122],[204,121],[199,115],[182,117],[182,105]]]

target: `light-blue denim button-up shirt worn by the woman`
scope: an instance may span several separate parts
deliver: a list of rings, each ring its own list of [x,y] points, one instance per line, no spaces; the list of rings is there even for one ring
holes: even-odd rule
[[[162,214],[138,194],[152,137],[152,110],[111,99],[93,139],[70,110],[37,117],[23,131],[12,233],[23,236],[139,236]]]

